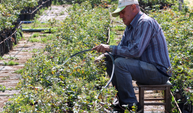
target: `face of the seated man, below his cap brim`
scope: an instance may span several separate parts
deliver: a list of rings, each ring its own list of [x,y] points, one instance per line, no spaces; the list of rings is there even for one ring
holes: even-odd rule
[[[129,25],[134,18],[132,5],[126,6],[120,13],[120,18],[123,19],[125,25]]]

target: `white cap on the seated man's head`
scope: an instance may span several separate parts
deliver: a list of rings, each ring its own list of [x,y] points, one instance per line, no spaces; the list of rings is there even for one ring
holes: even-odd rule
[[[118,8],[112,13],[112,16],[119,16],[119,12],[121,12],[127,5],[132,4],[139,4],[139,2],[138,0],[119,0]]]

